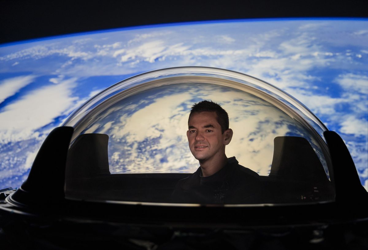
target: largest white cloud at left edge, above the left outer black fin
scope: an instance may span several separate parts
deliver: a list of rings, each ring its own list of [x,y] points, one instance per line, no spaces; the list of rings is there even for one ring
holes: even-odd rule
[[[24,140],[37,137],[34,130],[53,121],[77,99],[71,96],[75,78],[35,89],[0,113],[0,141]]]

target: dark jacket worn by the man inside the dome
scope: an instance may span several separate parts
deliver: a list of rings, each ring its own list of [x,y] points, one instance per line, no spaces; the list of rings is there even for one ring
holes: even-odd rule
[[[259,175],[241,165],[235,157],[215,174],[203,177],[201,167],[179,180],[172,202],[201,204],[263,203],[265,190]]]

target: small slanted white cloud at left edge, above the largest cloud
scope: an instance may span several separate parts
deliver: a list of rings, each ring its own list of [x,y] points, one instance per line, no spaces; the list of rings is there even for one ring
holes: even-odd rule
[[[35,76],[18,76],[13,78],[7,78],[0,82],[0,103],[6,98],[13,96],[19,92],[21,88],[33,82]]]

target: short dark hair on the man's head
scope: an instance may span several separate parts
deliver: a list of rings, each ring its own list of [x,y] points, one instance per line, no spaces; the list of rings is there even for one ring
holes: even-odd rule
[[[190,110],[188,122],[193,113],[200,112],[215,112],[216,120],[221,126],[221,132],[224,133],[226,129],[229,129],[229,115],[219,104],[207,100],[194,103]]]

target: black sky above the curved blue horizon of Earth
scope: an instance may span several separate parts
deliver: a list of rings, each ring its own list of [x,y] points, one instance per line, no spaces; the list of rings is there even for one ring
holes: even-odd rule
[[[365,2],[365,3],[364,3]],[[366,1],[1,0],[0,43],[158,23],[240,18],[367,17]]]

